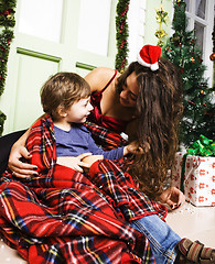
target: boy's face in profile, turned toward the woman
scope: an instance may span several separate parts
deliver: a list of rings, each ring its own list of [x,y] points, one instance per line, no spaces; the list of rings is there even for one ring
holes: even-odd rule
[[[65,112],[66,121],[69,123],[84,123],[94,109],[89,102],[90,97],[74,102]]]

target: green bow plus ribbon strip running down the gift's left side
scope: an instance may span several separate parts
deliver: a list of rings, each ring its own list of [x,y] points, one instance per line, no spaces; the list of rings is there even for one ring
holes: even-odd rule
[[[204,135],[200,135],[200,140],[195,141],[192,144],[192,148],[186,151],[186,154],[183,156],[182,161],[182,172],[181,172],[181,184],[180,189],[184,193],[184,175],[185,175],[185,165],[187,155],[195,156],[215,156],[215,142],[207,139]]]

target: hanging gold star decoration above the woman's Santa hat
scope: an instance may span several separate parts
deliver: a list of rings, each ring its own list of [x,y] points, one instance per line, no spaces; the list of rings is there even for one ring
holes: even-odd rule
[[[164,30],[162,30],[162,24],[166,24],[166,20],[168,20],[168,12],[163,10],[162,7],[162,0],[161,0],[161,7],[160,9],[157,9],[157,22],[159,23],[159,29],[157,30],[157,32],[154,33],[155,37],[159,38],[158,41],[158,46],[163,46],[164,45],[164,41],[163,37],[165,37],[168,34]]]

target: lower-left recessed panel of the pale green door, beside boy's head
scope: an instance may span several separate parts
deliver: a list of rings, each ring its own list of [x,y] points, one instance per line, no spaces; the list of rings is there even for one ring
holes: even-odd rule
[[[53,73],[57,73],[60,59],[44,54],[19,51],[18,82],[14,103],[14,127],[26,128],[43,114],[40,88]],[[36,72],[35,72],[36,69]],[[28,76],[28,78],[26,78]]]

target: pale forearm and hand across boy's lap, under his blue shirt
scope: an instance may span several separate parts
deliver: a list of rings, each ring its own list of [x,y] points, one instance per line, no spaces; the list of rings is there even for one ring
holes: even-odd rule
[[[66,167],[71,167],[79,173],[83,173],[84,168],[89,168],[88,163],[83,162],[85,157],[92,156],[92,153],[83,153],[79,156],[61,156],[57,157],[56,163]]]

